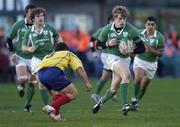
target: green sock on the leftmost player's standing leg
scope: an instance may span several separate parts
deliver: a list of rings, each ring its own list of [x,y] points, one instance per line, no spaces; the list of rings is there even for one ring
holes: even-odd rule
[[[25,105],[31,104],[34,93],[35,93],[34,88],[30,88],[30,86],[28,85]]]

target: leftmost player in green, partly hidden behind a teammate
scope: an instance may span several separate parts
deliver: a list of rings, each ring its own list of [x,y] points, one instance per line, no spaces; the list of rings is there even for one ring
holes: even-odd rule
[[[17,75],[17,90],[20,97],[24,96],[24,87],[28,83],[27,97],[24,106],[24,111],[31,112],[30,103],[34,95],[34,86],[37,83],[35,77],[31,75],[31,53],[24,53],[21,49],[22,40],[25,32],[32,26],[33,22],[30,19],[31,10],[35,8],[34,5],[27,5],[25,7],[25,18],[17,21],[11,27],[7,36],[7,45],[10,52],[10,59],[15,65]],[[13,39],[16,41],[13,43]]]

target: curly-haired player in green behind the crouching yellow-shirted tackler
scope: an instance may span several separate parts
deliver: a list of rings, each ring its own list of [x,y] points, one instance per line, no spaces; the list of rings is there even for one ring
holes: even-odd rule
[[[22,50],[26,53],[33,53],[31,59],[31,71],[36,75],[39,64],[45,55],[54,51],[54,45],[59,40],[59,34],[49,24],[44,22],[45,10],[43,8],[34,8],[31,19],[34,21],[33,26],[29,29],[23,39]],[[39,89],[44,105],[48,104],[47,90],[40,84]]]

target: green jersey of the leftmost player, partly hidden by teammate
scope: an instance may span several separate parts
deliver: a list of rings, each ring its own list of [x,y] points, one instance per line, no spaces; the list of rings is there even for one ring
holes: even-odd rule
[[[23,58],[31,59],[32,53],[25,53],[22,51],[22,41],[25,32],[30,28],[26,25],[26,19],[17,21],[13,24],[12,28],[10,29],[8,33],[8,38],[10,39],[16,39],[16,41],[13,43],[14,46],[14,52]]]

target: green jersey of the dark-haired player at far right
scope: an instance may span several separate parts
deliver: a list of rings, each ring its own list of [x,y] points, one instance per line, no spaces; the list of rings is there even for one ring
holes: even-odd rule
[[[142,40],[144,41],[145,45],[150,45],[152,48],[156,50],[163,51],[164,50],[164,36],[159,32],[155,31],[154,35],[150,37],[149,39],[146,38],[146,30],[140,30],[140,36],[142,37]],[[148,61],[148,62],[155,62],[158,60],[158,56],[153,55],[147,51],[145,51],[142,54],[137,55],[138,58]]]

